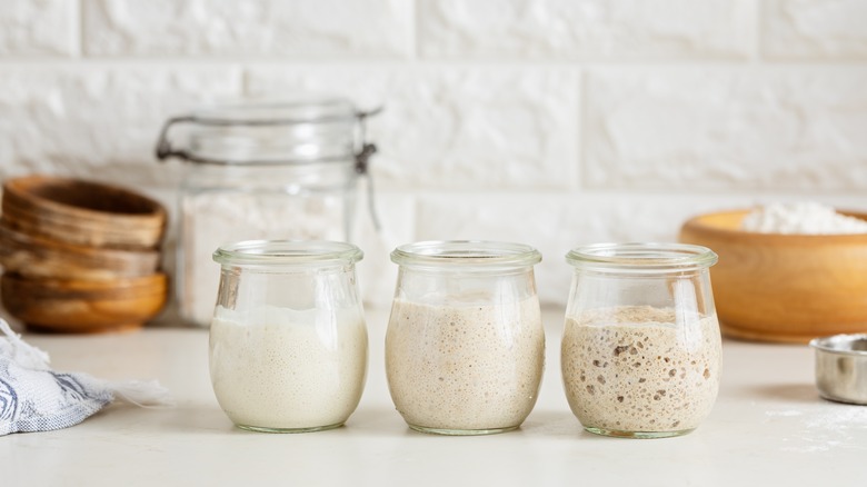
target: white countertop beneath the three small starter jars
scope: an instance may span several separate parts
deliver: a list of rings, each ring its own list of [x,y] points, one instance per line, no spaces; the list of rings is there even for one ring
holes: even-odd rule
[[[58,370],[159,379],[178,406],[113,405],[62,430],[0,437],[0,485],[864,485],[867,407],[814,387],[806,346],[724,342],[722,385],[690,435],[585,433],[560,382],[562,309],[546,309],[547,369],[517,431],[441,437],[410,430],[385,378],[386,310],[368,311],[367,387],[342,428],[272,435],[235,428],[208,377],[202,329],[97,336],[24,335]]]

